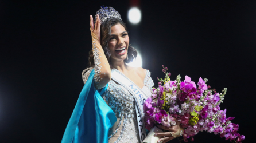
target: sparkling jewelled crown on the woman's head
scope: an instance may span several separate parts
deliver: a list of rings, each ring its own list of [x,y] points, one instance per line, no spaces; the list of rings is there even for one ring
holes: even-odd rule
[[[96,15],[99,14],[100,24],[106,21],[108,18],[118,18],[121,19],[121,15],[118,13],[118,11],[115,11],[113,7],[104,7],[100,6],[100,9],[96,12]],[[97,17],[95,15],[94,18],[94,25],[97,20]]]

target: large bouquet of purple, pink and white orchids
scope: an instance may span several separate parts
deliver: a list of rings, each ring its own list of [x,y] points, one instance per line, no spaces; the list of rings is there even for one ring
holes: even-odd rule
[[[188,142],[189,138],[193,141],[193,136],[204,130],[234,142],[242,142],[245,139],[245,136],[237,132],[238,124],[231,122],[234,117],[227,118],[226,109],[220,110],[220,103],[224,100],[227,88],[224,88],[222,93],[217,93],[206,85],[208,80],[201,77],[197,86],[188,76],[181,81],[178,75],[175,81],[171,81],[171,74],[166,72],[167,67],[163,68],[165,79],[157,78],[158,88],[153,88],[152,96],[143,106],[146,129],[150,130],[159,124],[169,128],[176,125],[176,118],[184,128],[185,142]]]

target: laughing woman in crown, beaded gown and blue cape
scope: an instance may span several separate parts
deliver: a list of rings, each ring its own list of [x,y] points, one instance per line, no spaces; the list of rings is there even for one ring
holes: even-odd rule
[[[150,72],[126,65],[137,51],[129,45],[125,23],[115,9],[102,6],[94,22],[90,15],[91,68],[82,72],[85,85],[62,142],[142,142],[143,104],[154,85]],[[158,142],[172,140],[180,131],[179,124],[160,128],[170,132],[157,133]]]

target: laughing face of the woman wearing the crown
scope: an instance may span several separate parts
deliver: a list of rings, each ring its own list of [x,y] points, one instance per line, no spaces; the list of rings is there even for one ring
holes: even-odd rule
[[[127,57],[129,46],[129,36],[125,27],[117,24],[111,27],[110,41],[108,49],[111,52],[111,58],[117,61],[123,61]]]

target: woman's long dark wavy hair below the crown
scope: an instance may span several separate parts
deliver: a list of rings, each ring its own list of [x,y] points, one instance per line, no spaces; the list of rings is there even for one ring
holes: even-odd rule
[[[111,27],[117,24],[121,24],[123,27],[125,27],[125,30],[127,31],[127,27],[125,23],[118,18],[109,18],[100,25],[100,44],[102,45],[102,48],[104,50],[104,54],[107,57],[108,63],[110,63],[110,56],[111,56],[110,50],[108,49],[108,42],[110,40]],[[128,56],[128,59],[127,58],[125,59],[125,63],[130,63],[134,60],[134,58],[137,57],[137,51],[134,49],[134,47],[129,45],[127,56]],[[92,50],[89,51],[89,66],[94,67],[94,54],[92,53]]]

